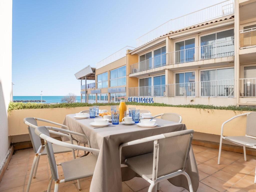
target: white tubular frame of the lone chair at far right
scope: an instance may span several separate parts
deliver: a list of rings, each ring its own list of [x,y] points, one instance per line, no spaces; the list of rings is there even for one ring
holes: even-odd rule
[[[244,115],[249,115],[250,113],[243,113],[243,114],[240,114],[240,115],[236,115],[236,116],[233,116],[232,118],[230,118],[229,120],[225,121],[222,125],[221,125],[221,133],[220,133],[220,147],[219,147],[219,156],[218,156],[218,165],[220,165],[220,156],[221,156],[221,147],[222,147],[222,140],[225,139],[225,136],[223,136],[223,129],[224,129],[224,125],[228,122],[230,122],[231,120],[233,119],[236,119],[238,117],[241,117],[241,116],[244,116]],[[253,139],[256,139],[256,137],[253,137],[253,136],[250,136],[250,135],[245,135],[246,137],[250,137],[250,138],[253,138]],[[229,140],[227,140],[229,141]],[[242,145],[240,143],[236,143],[236,142],[233,142],[233,141],[229,141],[229,142],[232,142],[232,143],[235,143],[237,145],[241,145],[243,146],[243,154],[244,154],[244,161],[247,161],[247,158],[246,158],[246,147],[250,147],[250,148],[254,148],[256,149],[256,146],[254,145],[250,145],[250,144],[246,144],[246,145]],[[255,168],[255,177],[254,177],[254,183],[256,183],[256,168]]]

